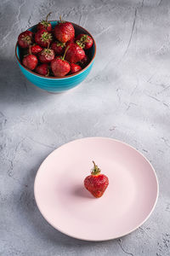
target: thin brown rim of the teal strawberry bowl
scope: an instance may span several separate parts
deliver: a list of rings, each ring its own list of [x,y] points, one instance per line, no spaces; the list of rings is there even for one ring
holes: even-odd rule
[[[57,21],[59,22],[59,20],[48,20],[48,22],[57,22]],[[71,21],[69,21],[69,22],[71,22]],[[84,30],[85,32],[87,32],[87,33],[89,34],[89,36],[90,36],[91,38],[93,38],[93,40],[94,40],[94,37],[91,35],[90,32],[88,32],[88,30],[86,30],[86,29],[83,28],[82,26],[77,25],[76,23],[71,22],[71,24],[72,24],[72,25],[76,25],[76,26],[78,26],[79,28],[83,29],[83,30]],[[30,30],[30,29],[33,28],[34,26],[37,26],[37,24],[35,24],[35,25],[33,25],[33,26],[27,28],[26,31],[27,31],[27,30]],[[45,77],[45,76],[43,76],[43,75],[41,75],[41,74],[38,74],[38,73],[35,73],[35,72],[31,71],[29,68],[25,67],[25,66],[22,64],[22,62],[20,61],[20,59],[19,59],[19,57],[18,57],[18,55],[17,55],[17,47],[19,47],[18,41],[17,41],[16,44],[15,44],[15,56],[16,56],[17,61],[20,63],[20,66],[24,67],[28,72],[34,74],[35,76],[41,77],[41,78],[43,78],[43,79],[69,79],[69,78],[71,78],[71,77],[75,77],[75,76],[77,76],[79,73],[82,73],[82,72],[84,72],[86,69],[88,69],[88,67],[93,63],[94,58],[95,58],[95,55],[96,55],[96,43],[95,43],[95,40],[94,40],[94,56],[93,56],[92,60],[88,63],[88,65],[87,65],[86,67],[82,68],[82,70],[80,70],[80,71],[77,72],[77,73],[73,73],[73,74],[70,74],[70,75],[67,75],[67,76],[64,76],[64,77]]]

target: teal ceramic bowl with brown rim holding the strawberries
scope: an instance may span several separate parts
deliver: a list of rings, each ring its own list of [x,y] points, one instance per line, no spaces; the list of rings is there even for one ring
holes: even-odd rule
[[[58,21],[50,21],[50,23],[54,28],[54,26],[58,23]],[[75,28],[76,36],[79,33],[86,33],[90,37],[92,37],[92,35],[87,30],[85,30],[82,26],[78,26],[77,24],[74,24],[74,23],[72,23],[72,25]],[[29,28],[28,30],[30,30],[31,32],[36,32],[36,25],[31,26],[31,28]],[[65,77],[44,77],[42,75],[32,72],[31,70],[29,70],[28,68],[22,65],[20,48],[18,44],[16,44],[15,46],[16,59],[19,64],[20,70],[26,76],[26,79],[28,79],[32,84],[37,85],[37,87],[41,88],[42,90],[47,90],[49,92],[62,92],[65,90],[70,90],[71,88],[82,83],[84,79],[86,79],[86,77],[88,76],[88,73],[90,72],[94,64],[94,57],[96,54],[95,41],[92,48],[89,49],[88,51],[89,51],[88,55],[91,61],[89,62],[88,66],[83,68],[80,72],[76,74],[67,75]]]

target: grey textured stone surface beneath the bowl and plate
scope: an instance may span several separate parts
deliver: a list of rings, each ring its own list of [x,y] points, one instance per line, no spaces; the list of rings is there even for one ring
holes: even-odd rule
[[[170,2],[0,2],[0,255],[170,255]],[[52,95],[20,73],[20,32],[53,11],[97,42],[88,79]],[[115,241],[78,241],[37,209],[33,183],[42,160],[81,137],[112,137],[138,148],[156,168],[160,195],[149,220]],[[102,231],[102,230],[101,230]]]

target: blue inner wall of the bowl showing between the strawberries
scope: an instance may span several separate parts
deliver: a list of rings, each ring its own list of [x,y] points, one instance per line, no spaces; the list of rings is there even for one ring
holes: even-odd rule
[[[56,24],[58,23],[58,21],[50,21],[50,23],[52,24],[52,27],[54,28],[56,26]],[[75,36],[77,37],[78,34],[80,33],[85,33],[85,34],[88,34],[89,36],[92,37],[92,35],[90,35],[85,29],[83,29],[82,27],[80,26],[77,26],[77,24],[74,24],[72,23],[72,25],[74,26],[75,28]],[[31,32],[37,32],[37,25],[35,26],[32,26],[30,29]],[[86,51],[86,54],[88,55],[88,58],[90,60],[92,60],[92,58],[94,57],[94,52],[95,52],[95,45],[93,45],[92,48],[88,49]],[[20,60],[20,64],[22,65],[22,58],[24,55],[27,54],[27,49],[20,49],[19,46],[17,45],[17,49],[16,49],[16,53],[18,55],[18,58]],[[24,67],[24,66],[23,66]],[[37,73],[35,73],[37,74]],[[38,74],[37,74],[38,75]],[[66,78],[66,77],[65,77]]]

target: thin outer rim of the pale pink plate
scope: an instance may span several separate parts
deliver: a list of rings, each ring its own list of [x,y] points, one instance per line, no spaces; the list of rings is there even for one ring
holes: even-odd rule
[[[132,233],[134,230],[139,229],[139,227],[140,227],[141,225],[143,225],[144,222],[146,222],[146,221],[148,220],[148,218],[150,218],[150,215],[152,214],[152,212],[154,211],[154,209],[155,209],[155,207],[156,207],[156,203],[157,203],[158,196],[159,196],[159,182],[158,182],[158,178],[157,178],[156,171],[155,171],[154,167],[152,166],[152,164],[150,163],[150,161],[144,156],[143,153],[141,153],[138,149],[134,148],[133,146],[129,145],[128,143],[124,143],[124,142],[122,142],[122,141],[120,141],[120,140],[118,140],[118,139],[115,139],[115,138],[111,138],[111,137],[82,137],[82,138],[79,138],[79,139],[76,139],[76,140],[72,140],[72,141],[70,141],[70,142],[68,142],[68,143],[62,144],[62,145],[59,146],[58,148],[55,148],[50,154],[48,154],[48,156],[42,161],[41,165],[40,165],[39,168],[37,169],[36,177],[35,177],[35,179],[34,179],[34,198],[35,198],[35,201],[36,201],[36,203],[37,203],[37,208],[38,208],[39,212],[42,214],[42,217],[45,218],[45,220],[48,222],[48,224],[50,224],[52,227],[54,227],[55,230],[58,230],[59,232],[65,234],[66,236],[70,236],[70,237],[72,237],[72,238],[75,238],[75,239],[78,239],[78,240],[82,240],[82,241],[111,241],[111,240],[113,240],[113,239],[118,239],[118,238],[120,238],[120,237],[122,237],[122,236],[116,236],[116,237],[111,237],[111,238],[106,238],[106,239],[97,239],[97,240],[95,240],[95,239],[85,239],[85,238],[83,238],[83,237],[78,237],[78,236],[72,236],[71,234],[65,232],[65,231],[62,230],[62,229],[59,229],[59,227],[56,227],[54,224],[52,224],[52,223],[50,222],[50,220],[48,220],[48,218],[44,216],[44,214],[43,214],[42,211],[40,210],[40,207],[39,207],[38,202],[37,202],[37,195],[36,195],[37,174],[38,174],[38,172],[40,171],[41,166],[42,166],[42,164],[44,163],[44,161],[47,160],[48,157],[49,157],[51,154],[54,154],[54,152],[55,152],[56,150],[58,150],[58,149],[60,149],[60,148],[62,148],[62,147],[64,147],[64,146],[66,146],[66,145],[69,144],[69,143],[74,143],[74,142],[77,142],[77,141],[82,141],[82,140],[85,140],[85,139],[94,139],[94,138],[95,138],[95,139],[106,139],[106,140],[114,141],[114,142],[116,142],[116,143],[122,143],[122,144],[126,145],[128,148],[133,148],[134,151],[137,151],[137,152],[144,158],[144,160],[147,161],[147,163],[150,165],[150,167],[151,167],[151,169],[152,169],[152,171],[153,171],[153,173],[154,173],[154,176],[156,177],[156,201],[155,201],[153,207],[151,208],[150,213],[148,214],[148,216],[147,216],[146,218],[144,218],[144,220],[143,220],[138,226],[136,226],[136,227],[133,228],[132,230],[130,230],[130,231],[128,231],[128,232],[122,234],[122,236],[127,236],[128,234]]]

